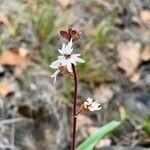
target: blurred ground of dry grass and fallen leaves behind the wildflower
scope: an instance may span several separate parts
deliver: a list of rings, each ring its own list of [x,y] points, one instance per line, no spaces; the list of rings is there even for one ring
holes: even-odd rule
[[[89,96],[102,103],[79,116],[77,143],[117,120],[121,105],[127,120],[95,149],[148,149],[149,0],[0,0],[0,149],[70,149],[72,80],[60,75],[54,86],[49,68],[68,27],[82,32],[74,51],[86,61],[78,106]]]

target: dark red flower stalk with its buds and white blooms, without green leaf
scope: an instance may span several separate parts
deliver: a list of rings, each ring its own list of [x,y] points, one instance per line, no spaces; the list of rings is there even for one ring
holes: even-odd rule
[[[77,72],[76,72],[76,64],[77,63],[86,63],[81,57],[81,54],[73,53],[73,45],[74,42],[79,40],[81,36],[81,32],[75,29],[69,28],[67,31],[60,31],[60,35],[67,39],[69,42],[67,44],[62,44],[62,48],[58,49],[60,56],[50,64],[50,67],[56,69],[56,71],[51,75],[54,78],[54,84],[56,83],[57,75],[59,73],[62,74],[70,74],[74,81],[74,94],[73,94],[73,129],[72,129],[72,150],[76,148],[76,124],[77,117],[80,112],[87,111],[96,111],[101,109],[101,105],[94,102],[92,98],[87,98],[86,101],[83,102],[80,109],[77,111]]]

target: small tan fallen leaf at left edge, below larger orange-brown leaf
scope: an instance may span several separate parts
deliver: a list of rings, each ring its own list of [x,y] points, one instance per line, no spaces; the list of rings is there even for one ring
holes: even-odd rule
[[[12,92],[13,92],[13,90],[9,83],[4,82],[4,81],[0,82],[0,95],[7,96]]]

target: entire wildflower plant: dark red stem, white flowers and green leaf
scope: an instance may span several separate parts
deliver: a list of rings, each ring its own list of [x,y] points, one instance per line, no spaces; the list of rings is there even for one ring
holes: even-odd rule
[[[62,74],[70,74],[71,79],[74,81],[74,93],[73,93],[73,115],[72,115],[72,150],[93,150],[94,146],[109,133],[113,132],[117,129],[122,123],[126,120],[126,113],[123,106],[119,107],[120,111],[120,120],[119,121],[111,121],[97,130],[97,132],[93,133],[90,137],[88,137],[85,141],[83,141],[76,148],[76,124],[78,115],[81,112],[93,112],[101,109],[101,104],[97,101],[94,101],[92,98],[88,97],[81,104],[79,110],[77,110],[77,72],[76,72],[76,64],[77,63],[86,63],[82,58],[81,54],[73,53],[73,45],[76,40],[79,40],[81,36],[81,32],[69,28],[67,31],[60,31],[60,35],[68,40],[67,44],[62,44],[62,48],[58,49],[60,56],[51,63],[50,67],[56,69],[56,71],[51,75],[54,78],[54,84],[56,83],[57,75],[59,73]]]

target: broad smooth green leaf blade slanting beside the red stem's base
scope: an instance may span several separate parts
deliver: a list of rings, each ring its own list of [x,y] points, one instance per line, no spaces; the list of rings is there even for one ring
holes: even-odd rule
[[[103,139],[110,132],[114,131],[121,125],[121,121],[111,121],[104,125],[96,133],[87,138],[81,145],[78,146],[77,150],[92,150],[94,146]]]

